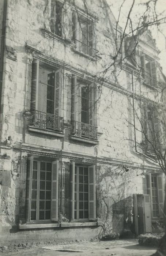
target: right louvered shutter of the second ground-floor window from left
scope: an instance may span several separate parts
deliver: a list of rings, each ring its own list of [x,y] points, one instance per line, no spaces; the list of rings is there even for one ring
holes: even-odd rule
[[[89,220],[96,219],[96,182],[95,182],[95,165],[88,167],[88,205]]]

